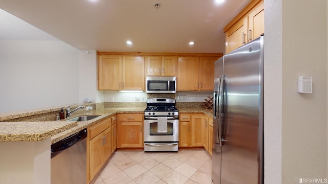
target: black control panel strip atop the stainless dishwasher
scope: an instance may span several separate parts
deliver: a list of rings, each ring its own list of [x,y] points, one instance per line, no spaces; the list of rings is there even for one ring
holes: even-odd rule
[[[66,137],[63,140],[58,141],[55,144],[51,145],[51,158],[59,154],[61,151],[66,150],[67,148],[73,146],[77,142],[85,139],[88,135],[87,129],[83,129],[79,132],[74,133],[73,135],[70,135]]]

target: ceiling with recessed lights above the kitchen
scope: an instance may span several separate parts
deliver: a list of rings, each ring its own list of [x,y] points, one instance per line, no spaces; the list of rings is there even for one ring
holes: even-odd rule
[[[224,53],[223,28],[249,2],[0,0],[1,9],[46,32],[0,11],[0,39],[58,38],[79,50]]]

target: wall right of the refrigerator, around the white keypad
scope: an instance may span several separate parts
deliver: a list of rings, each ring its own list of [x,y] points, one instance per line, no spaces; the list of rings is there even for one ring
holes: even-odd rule
[[[265,183],[327,178],[326,1],[265,1]],[[313,77],[298,94],[297,78]]]

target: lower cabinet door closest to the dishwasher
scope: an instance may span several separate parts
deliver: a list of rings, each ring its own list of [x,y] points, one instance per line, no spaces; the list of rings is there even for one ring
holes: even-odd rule
[[[90,140],[90,180],[101,168],[101,146],[103,145],[103,134],[100,133]]]

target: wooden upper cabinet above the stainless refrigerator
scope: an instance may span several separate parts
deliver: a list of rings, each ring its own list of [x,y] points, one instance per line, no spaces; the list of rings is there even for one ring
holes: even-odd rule
[[[252,0],[223,29],[226,53],[258,38],[264,33],[264,0]]]

